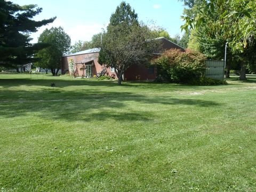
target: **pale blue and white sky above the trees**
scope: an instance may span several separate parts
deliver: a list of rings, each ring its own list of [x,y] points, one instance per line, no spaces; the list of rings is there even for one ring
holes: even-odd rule
[[[34,20],[57,17],[55,21],[31,34],[36,43],[38,36],[46,28],[62,26],[71,38],[73,45],[78,40],[91,41],[94,34],[106,28],[109,18],[122,0],[11,0],[19,5],[36,4],[43,11]],[[180,16],[183,4],[178,0],[126,0],[138,14],[139,21],[149,26],[163,27],[171,37],[182,35]]]

